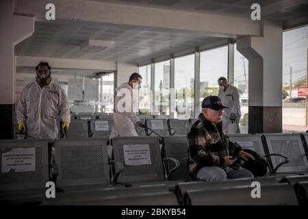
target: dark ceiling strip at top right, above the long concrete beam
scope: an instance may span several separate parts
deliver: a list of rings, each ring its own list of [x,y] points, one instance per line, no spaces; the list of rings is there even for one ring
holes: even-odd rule
[[[88,1],[88,0],[85,0]],[[90,0],[106,3],[138,5],[185,12],[250,17],[251,5],[259,3],[261,18],[288,21],[307,16],[308,1],[304,0]]]

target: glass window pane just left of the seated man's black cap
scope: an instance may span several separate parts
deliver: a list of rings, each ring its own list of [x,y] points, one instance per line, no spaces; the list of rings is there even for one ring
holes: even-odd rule
[[[175,58],[175,118],[194,118],[194,54]]]

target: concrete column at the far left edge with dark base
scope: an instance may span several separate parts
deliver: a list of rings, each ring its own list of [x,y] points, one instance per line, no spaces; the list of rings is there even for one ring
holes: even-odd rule
[[[14,1],[0,2],[0,139],[13,138],[16,67],[14,46],[31,36],[34,18],[14,15]]]

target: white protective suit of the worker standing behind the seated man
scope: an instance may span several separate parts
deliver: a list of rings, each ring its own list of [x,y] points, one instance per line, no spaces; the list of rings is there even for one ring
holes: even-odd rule
[[[240,107],[240,96],[238,94],[238,89],[229,83],[229,87],[224,91],[224,88],[220,88],[219,98],[222,101],[222,105],[229,107],[229,109],[224,109],[224,116],[222,116],[222,130],[228,133],[228,125],[232,123],[229,119],[230,114],[235,114],[235,121],[233,123],[237,126],[237,133],[240,133],[239,122],[241,118],[241,107]],[[226,118],[227,117],[227,118]]]

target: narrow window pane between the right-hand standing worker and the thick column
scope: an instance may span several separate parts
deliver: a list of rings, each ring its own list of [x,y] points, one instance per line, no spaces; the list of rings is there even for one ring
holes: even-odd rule
[[[240,94],[240,130],[241,133],[248,133],[248,60],[236,50],[236,44],[234,44],[233,85],[238,88]]]

